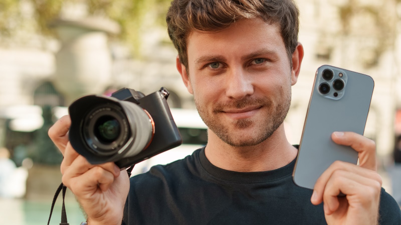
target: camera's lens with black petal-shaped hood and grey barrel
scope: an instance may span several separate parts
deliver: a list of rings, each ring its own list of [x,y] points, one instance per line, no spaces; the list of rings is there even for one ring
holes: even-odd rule
[[[134,156],[154,135],[150,114],[138,104],[88,95],[70,105],[71,144],[92,164]]]

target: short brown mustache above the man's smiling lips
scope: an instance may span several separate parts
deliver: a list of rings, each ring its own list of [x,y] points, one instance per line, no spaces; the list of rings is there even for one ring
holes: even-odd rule
[[[260,106],[271,106],[272,100],[269,97],[247,97],[243,98],[241,100],[230,100],[226,102],[219,102],[215,105],[213,112],[221,112],[224,111],[225,108],[244,108],[247,106],[254,106],[254,105],[260,105]]]

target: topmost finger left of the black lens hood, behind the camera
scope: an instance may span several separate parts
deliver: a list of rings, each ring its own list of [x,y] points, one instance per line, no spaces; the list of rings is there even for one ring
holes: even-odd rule
[[[70,126],[70,116],[64,115],[59,120],[57,120],[48,131],[50,139],[53,140],[53,142],[62,151],[62,153],[68,143],[68,130],[70,129]]]

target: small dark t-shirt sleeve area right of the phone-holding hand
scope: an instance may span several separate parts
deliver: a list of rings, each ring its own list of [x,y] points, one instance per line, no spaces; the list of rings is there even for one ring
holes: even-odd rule
[[[381,188],[380,194],[379,224],[401,225],[401,209],[384,188]]]

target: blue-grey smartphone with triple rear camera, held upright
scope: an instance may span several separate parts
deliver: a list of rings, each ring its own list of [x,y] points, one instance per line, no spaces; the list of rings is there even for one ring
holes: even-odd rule
[[[372,77],[362,73],[330,65],[317,69],[292,174],[295,184],[313,189],[334,161],[357,163],[358,153],[334,143],[331,134],[363,134],[373,86]]]

